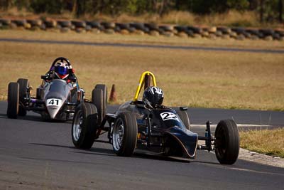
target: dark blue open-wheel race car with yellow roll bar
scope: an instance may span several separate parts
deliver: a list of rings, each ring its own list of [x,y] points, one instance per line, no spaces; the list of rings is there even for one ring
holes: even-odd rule
[[[138,100],[143,85],[143,99]],[[94,142],[102,142],[98,138],[107,132],[107,142],[119,156],[129,157],[139,149],[165,157],[194,159],[197,149],[205,149],[214,151],[221,164],[234,164],[239,156],[239,130],[233,120],[221,120],[214,136],[207,122],[206,135],[198,136],[190,130],[187,107],[173,110],[162,105],[163,90],[157,87],[151,72],[141,75],[133,100],[122,104],[114,114],[105,113],[107,88],[95,88],[92,96],[96,94],[102,99],[82,102],[75,110],[72,142],[77,148],[91,148]],[[102,111],[98,113],[97,107]]]

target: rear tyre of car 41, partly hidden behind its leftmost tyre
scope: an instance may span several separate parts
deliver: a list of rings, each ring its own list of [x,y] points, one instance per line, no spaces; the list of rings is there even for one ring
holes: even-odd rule
[[[28,93],[28,88],[30,88],[30,83],[26,78],[19,78],[17,80],[17,83],[19,85],[19,99],[20,99],[20,103],[18,105],[18,115],[26,116],[26,108],[24,106],[24,101],[26,94]]]

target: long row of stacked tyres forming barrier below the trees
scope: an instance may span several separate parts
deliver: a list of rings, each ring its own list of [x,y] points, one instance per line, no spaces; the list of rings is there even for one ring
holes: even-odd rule
[[[179,26],[156,23],[115,23],[107,21],[79,21],[79,20],[54,20],[54,19],[0,19],[0,29],[28,29],[49,30],[62,33],[75,31],[77,33],[121,33],[149,36],[179,36],[182,38],[234,38],[236,40],[284,41],[284,28],[244,28],[227,26]]]

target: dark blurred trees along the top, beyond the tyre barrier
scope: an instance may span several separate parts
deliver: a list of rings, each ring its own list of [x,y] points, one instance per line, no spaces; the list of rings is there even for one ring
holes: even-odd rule
[[[263,21],[283,20],[284,0],[0,0],[0,9],[17,7],[35,14],[61,14],[70,11],[80,17],[84,14],[167,14],[169,11],[191,11],[195,14],[224,13],[254,10]],[[280,9],[280,6],[282,9]]]

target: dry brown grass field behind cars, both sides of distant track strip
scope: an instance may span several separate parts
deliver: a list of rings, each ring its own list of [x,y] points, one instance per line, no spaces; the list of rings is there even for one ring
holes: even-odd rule
[[[212,46],[209,40],[122,36],[94,33],[54,33],[0,31],[0,38],[41,38],[68,41],[132,43],[195,43]],[[151,39],[151,40],[149,40]],[[170,41],[170,42],[169,42]],[[213,41],[226,46],[222,40]],[[252,41],[251,41],[252,42]],[[203,44],[203,45],[198,45]],[[231,43],[228,46],[236,46]],[[239,45],[237,45],[239,46]],[[280,48],[283,43],[253,41],[245,47]],[[264,48],[263,47],[263,48]],[[40,43],[0,43],[0,98],[6,100],[7,86],[18,78],[28,78],[36,88],[52,61],[65,56],[76,70],[80,86],[90,97],[97,83],[109,88],[116,84],[118,102],[131,100],[141,73],[151,70],[165,92],[165,105],[219,107],[229,109],[284,110],[284,55],[121,48]],[[110,89],[109,89],[110,90]]]

